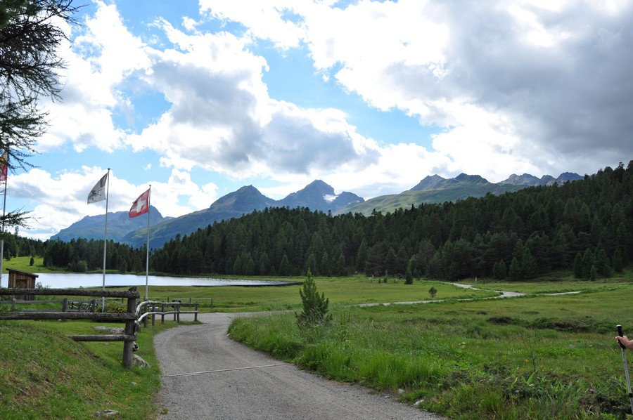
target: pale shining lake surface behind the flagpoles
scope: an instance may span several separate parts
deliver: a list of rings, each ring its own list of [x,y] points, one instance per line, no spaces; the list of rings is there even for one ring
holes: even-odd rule
[[[37,274],[37,273],[36,273]],[[66,289],[72,287],[101,287],[103,274],[66,274],[39,273],[35,279],[43,287],[52,289]],[[6,287],[8,277],[2,276]],[[106,274],[106,287],[109,286],[145,286],[146,276],[133,274]],[[276,282],[267,280],[238,280],[238,279],[203,279],[195,277],[163,277],[151,275],[147,277],[150,286],[279,286],[293,284],[291,282]]]

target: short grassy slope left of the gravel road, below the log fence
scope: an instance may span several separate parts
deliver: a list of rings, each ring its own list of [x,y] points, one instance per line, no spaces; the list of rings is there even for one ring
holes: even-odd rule
[[[153,335],[139,334],[139,351],[152,369],[122,366],[120,342],[78,343],[67,334],[97,334],[89,321],[0,321],[0,419],[152,419],[160,370]],[[123,324],[108,324],[123,327]]]

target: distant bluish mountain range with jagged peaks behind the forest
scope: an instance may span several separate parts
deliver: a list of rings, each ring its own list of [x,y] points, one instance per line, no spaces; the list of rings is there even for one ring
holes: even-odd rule
[[[338,195],[334,189],[316,180],[302,190],[293,192],[281,200],[262,195],[257,188],[246,185],[217,199],[208,209],[194,211],[177,218],[163,217],[158,209],[150,211],[150,247],[160,248],[176,235],[188,235],[199,228],[206,228],[216,221],[238,218],[252,211],[261,211],[267,207],[288,206],[307,207],[313,211],[331,211],[332,214],[348,212],[371,214],[373,211],[393,211],[409,208],[411,205],[454,202],[468,197],[482,197],[487,193],[502,194],[537,185],[551,185],[582,179],[577,173],[562,173],[558,178],[543,176],[537,178],[528,173],[511,175],[500,183],[490,183],[478,175],[461,173],[455,178],[442,178],[438,175],[427,176],[414,188],[393,195],[383,195],[365,201],[352,192]],[[72,238],[103,239],[106,216],[86,216],[82,220],[60,230],[51,239],[69,241]],[[147,241],[147,219],[129,218],[127,211],[108,213],[108,240],[141,247]]]

